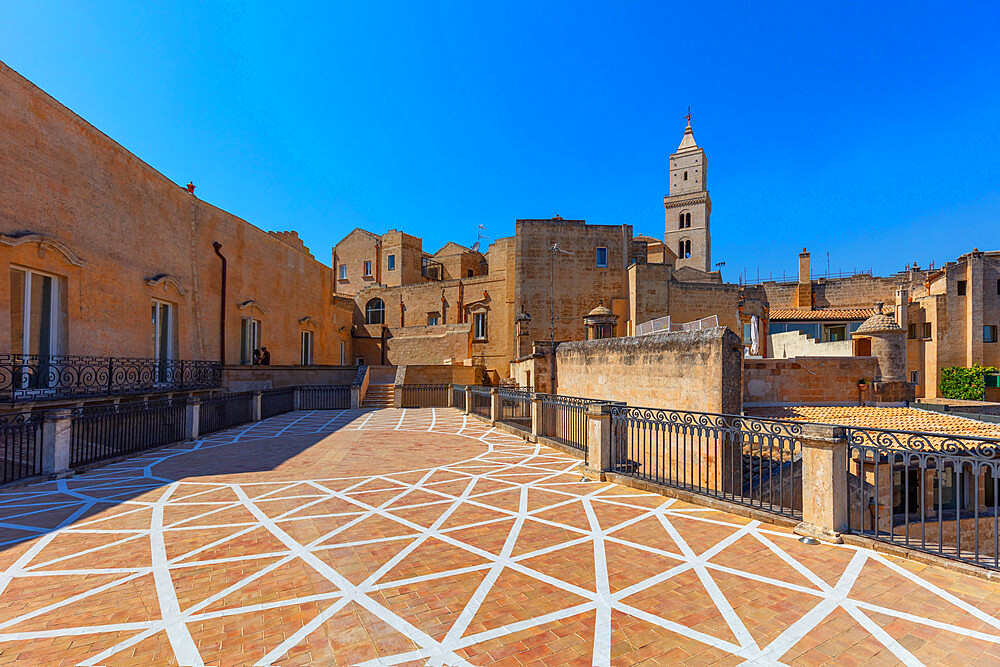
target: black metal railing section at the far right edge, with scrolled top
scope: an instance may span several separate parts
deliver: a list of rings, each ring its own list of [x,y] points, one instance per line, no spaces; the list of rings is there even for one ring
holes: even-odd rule
[[[874,428],[847,435],[851,532],[1000,569],[1000,439]]]

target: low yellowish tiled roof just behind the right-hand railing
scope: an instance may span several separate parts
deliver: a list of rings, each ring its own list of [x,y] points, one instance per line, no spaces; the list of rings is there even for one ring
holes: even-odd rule
[[[965,419],[940,412],[914,408],[877,408],[859,405],[814,406],[783,405],[746,408],[747,416],[789,419],[819,424],[891,429],[895,431],[925,431],[968,435],[980,438],[1000,438],[1000,424]]]

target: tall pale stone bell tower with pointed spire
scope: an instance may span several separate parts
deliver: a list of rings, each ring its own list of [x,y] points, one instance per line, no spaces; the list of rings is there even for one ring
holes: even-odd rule
[[[709,218],[708,165],[705,151],[694,140],[691,114],[677,151],[670,156],[670,194],[663,198],[667,247],[677,255],[676,267],[712,270],[712,236]]]

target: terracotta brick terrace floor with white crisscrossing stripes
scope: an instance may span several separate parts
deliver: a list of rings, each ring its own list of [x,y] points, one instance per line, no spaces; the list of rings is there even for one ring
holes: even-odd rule
[[[451,409],[0,493],[0,664],[966,664],[1000,586],[640,493]]]

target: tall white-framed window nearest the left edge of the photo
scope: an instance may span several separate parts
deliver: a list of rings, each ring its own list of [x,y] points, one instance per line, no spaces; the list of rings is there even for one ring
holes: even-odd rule
[[[10,270],[11,348],[14,354],[59,354],[65,331],[65,286],[55,276]]]

